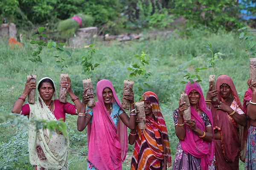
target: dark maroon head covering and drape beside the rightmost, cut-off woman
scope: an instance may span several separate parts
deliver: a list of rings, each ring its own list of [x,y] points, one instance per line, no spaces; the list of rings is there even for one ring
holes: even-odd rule
[[[218,100],[221,102],[224,102],[224,99],[221,97],[220,94],[220,86],[222,84],[227,84],[230,86],[231,93],[230,98],[234,99],[236,103],[239,105],[239,107],[242,109],[242,105],[239,99],[239,96],[236,92],[235,85],[231,79],[231,77],[227,75],[221,75],[216,80],[216,88],[218,90]],[[224,155],[224,158],[226,160],[223,160],[224,163],[221,164],[221,160],[219,161],[220,166],[225,166],[226,161],[228,162],[234,162],[236,159],[236,156],[239,154],[239,151],[241,150],[241,153],[245,153],[246,150],[246,133],[244,133],[244,127],[237,124],[236,121],[229,116],[226,112],[222,110],[216,110],[214,108],[214,105],[218,105],[218,102],[212,102],[211,105],[211,111],[213,115],[213,125],[214,128],[217,128],[221,132],[221,143],[215,142],[215,147],[219,150],[222,150],[222,154]],[[246,132],[246,128],[245,128]],[[221,146],[218,146],[221,145]],[[245,154],[241,154],[241,160],[244,160]],[[215,156],[216,161],[218,161],[218,156]]]

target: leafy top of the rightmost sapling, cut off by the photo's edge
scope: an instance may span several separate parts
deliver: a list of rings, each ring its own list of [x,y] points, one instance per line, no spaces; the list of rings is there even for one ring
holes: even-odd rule
[[[246,29],[247,27],[242,27],[238,30],[239,32],[241,32],[239,35],[239,39],[241,39],[240,42],[244,41],[244,43],[247,45],[247,48],[245,48],[245,51],[248,52],[248,55],[246,56],[246,58],[248,56],[250,56],[250,58],[253,58],[256,56],[256,50],[255,50],[256,42],[253,40],[254,39],[253,36],[245,36],[244,31],[246,31]]]

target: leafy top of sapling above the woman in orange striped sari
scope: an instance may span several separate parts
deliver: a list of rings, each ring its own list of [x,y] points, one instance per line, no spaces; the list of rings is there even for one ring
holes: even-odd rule
[[[139,58],[140,59],[140,63],[139,64],[133,64],[132,68],[128,67],[127,70],[128,71],[132,71],[129,74],[129,78],[132,78],[132,81],[134,81],[134,79],[136,77],[140,77],[138,79],[138,82],[140,83],[140,87],[138,87],[138,90],[142,92],[143,94],[143,86],[144,85],[148,85],[148,83],[145,82],[146,79],[148,79],[149,76],[153,76],[153,74],[151,72],[147,72],[145,69],[145,64],[149,65],[148,61],[146,61],[146,59],[149,60],[147,54],[145,54],[145,52],[142,51],[141,55],[134,55],[135,58]],[[142,94],[140,96],[142,96]],[[141,97],[140,97],[141,99]]]

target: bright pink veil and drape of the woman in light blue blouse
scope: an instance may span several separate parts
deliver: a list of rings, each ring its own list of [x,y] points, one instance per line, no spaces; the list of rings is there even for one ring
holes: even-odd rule
[[[92,124],[87,125],[88,161],[100,170],[121,170],[128,149],[127,127],[121,119],[117,127],[114,125],[102,96],[105,88],[112,90],[111,102],[120,106],[112,83],[106,79],[100,80],[96,86],[98,102],[93,108]]]

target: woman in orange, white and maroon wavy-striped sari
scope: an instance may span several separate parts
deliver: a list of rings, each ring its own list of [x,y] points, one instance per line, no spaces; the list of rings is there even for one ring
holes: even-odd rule
[[[159,108],[157,95],[151,91],[143,94],[146,129],[137,126],[131,130],[129,144],[134,144],[131,170],[166,170],[172,165],[168,132]],[[143,122],[137,117],[136,122]]]

